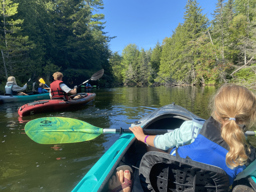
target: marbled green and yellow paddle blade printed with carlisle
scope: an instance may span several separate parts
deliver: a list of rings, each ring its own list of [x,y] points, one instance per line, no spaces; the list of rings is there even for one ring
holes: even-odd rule
[[[37,143],[57,144],[92,140],[102,129],[77,119],[46,117],[29,121],[25,132]]]

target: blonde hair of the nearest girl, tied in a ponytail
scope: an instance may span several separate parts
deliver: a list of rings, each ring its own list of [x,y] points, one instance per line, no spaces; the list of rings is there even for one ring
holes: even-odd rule
[[[221,137],[229,146],[226,164],[233,168],[244,165],[250,154],[249,144],[239,124],[251,127],[256,119],[256,97],[236,84],[221,86],[211,101],[212,116],[221,123]],[[229,120],[235,118],[236,120]],[[224,124],[224,126],[223,126]]]

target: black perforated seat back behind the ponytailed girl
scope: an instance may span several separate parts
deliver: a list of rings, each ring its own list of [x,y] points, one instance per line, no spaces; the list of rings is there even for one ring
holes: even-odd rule
[[[223,169],[161,152],[142,157],[139,178],[144,192],[224,192],[229,188]]]

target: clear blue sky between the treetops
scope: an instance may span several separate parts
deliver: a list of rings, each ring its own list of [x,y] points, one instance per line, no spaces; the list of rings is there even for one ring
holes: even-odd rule
[[[197,0],[211,19],[217,0]],[[186,0],[103,0],[105,32],[117,36],[110,41],[110,49],[122,53],[125,45],[135,43],[139,49],[153,49],[157,40],[162,43],[172,35],[178,23],[184,21]]]

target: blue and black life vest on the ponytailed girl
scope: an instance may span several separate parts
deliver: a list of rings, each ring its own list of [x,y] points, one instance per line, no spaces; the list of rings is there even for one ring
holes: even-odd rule
[[[229,146],[221,138],[220,129],[220,123],[211,116],[205,121],[193,143],[173,148],[170,154],[173,153],[173,155],[179,155],[182,158],[189,158],[193,161],[220,167],[228,174],[229,184],[232,185],[237,174],[255,160],[255,149],[251,149],[246,165],[234,167],[233,169],[229,168],[226,165],[226,154],[229,151]],[[176,153],[174,153],[174,150],[176,150]]]

